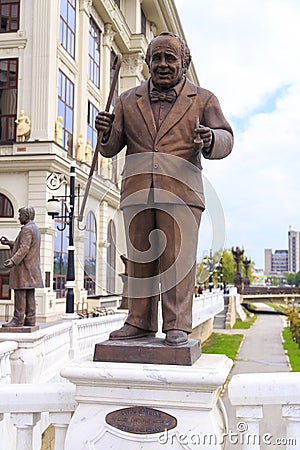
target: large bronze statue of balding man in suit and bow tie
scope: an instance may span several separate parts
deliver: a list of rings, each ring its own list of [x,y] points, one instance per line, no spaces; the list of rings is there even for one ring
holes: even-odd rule
[[[125,146],[121,209],[128,253],[129,311],[110,339],[154,336],[162,301],[165,344],[184,345],[192,331],[198,229],[204,195],[201,156],[221,159],[232,129],[217,98],[185,77],[191,56],[172,33],[155,37],[146,62],[151,78],[100,112],[101,154]]]

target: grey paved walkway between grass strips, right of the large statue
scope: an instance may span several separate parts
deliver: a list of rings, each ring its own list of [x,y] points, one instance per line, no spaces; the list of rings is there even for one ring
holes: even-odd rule
[[[259,310],[272,310],[265,304],[256,304]],[[284,317],[276,314],[259,314],[255,323],[247,330],[214,330],[225,333],[244,334],[230,378],[238,373],[287,372],[290,370],[288,358],[282,345],[281,332],[285,326]],[[238,420],[235,408],[231,406],[227,389],[223,395],[229,420],[229,430],[237,431]],[[260,434],[270,433],[274,438],[285,437],[285,422],[281,417],[281,407],[264,407],[264,418],[261,422]],[[228,442],[225,450],[240,450],[241,444]],[[281,447],[284,449],[284,446]],[[270,449],[270,446],[261,446]]]

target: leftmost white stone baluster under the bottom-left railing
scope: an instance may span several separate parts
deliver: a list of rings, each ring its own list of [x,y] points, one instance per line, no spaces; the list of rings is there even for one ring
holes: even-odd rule
[[[11,419],[17,429],[16,450],[32,450],[33,427],[41,419],[41,413],[13,413]]]

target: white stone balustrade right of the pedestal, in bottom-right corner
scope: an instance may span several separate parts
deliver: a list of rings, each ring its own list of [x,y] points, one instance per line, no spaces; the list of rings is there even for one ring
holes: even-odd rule
[[[236,406],[236,417],[245,424],[245,439],[241,450],[260,450],[260,422],[264,405],[281,405],[286,420],[286,437],[278,447],[286,450],[300,448],[300,373],[251,373],[234,375],[228,385],[228,395]],[[247,438],[249,436],[249,438]],[[265,436],[265,439],[270,437]],[[276,437],[274,437],[276,439]],[[264,442],[276,445],[276,442]],[[286,447],[283,447],[283,444]],[[276,447],[277,448],[277,447]]]

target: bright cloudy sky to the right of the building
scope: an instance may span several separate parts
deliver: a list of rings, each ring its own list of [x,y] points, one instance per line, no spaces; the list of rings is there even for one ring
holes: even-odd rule
[[[203,161],[224,211],[225,248],[243,246],[263,268],[264,249],[287,249],[289,228],[300,230],[300,2],[175,3],[200,84],[235,133],[229,157]],[[211,246],[205,214],[201,252]]]

